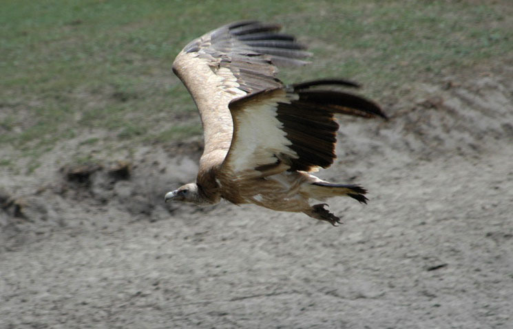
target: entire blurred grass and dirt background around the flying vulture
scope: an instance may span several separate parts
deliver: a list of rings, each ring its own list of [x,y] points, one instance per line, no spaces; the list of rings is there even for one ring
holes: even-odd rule
[[[513,5],[1,1],[1,328],[510,328]],[[324,177],[345,224],[165,205],[202,128],[171,71],[242,19],[313,52],[285,83],[363,84]]]

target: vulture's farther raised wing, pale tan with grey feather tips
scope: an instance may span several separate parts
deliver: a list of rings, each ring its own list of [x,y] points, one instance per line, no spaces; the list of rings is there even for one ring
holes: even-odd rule
[[[229,148],[231,100],[282,87],[275,65],[306,64],[305,47],[279,30],[280,25],[258,21],[231,23],[192,41],[176,57],[173,70],[200,111],[205,153]]]

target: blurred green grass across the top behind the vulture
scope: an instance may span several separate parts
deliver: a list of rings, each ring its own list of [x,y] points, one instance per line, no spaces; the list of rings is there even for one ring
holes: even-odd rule
[[[311,44],[313,65],[284,80],[344,76],[379,98],[511,56],[510,1],[477,2],[3,0],[0,145],[38,157],[93,128],[132,147],[200,135],[171,63],[192,38],[239,19],[278,21]]]

